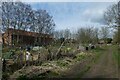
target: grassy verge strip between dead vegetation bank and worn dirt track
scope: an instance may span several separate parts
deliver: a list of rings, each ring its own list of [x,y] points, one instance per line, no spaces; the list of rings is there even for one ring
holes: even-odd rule
[[[65,71],[63,77],[66,78],[81,78],[90,68],[91,66],[96,63],[99,57],[102,55],[101,53],[104,49],[95,49],[92,51],[87,52],[92,53],[92,56],[88,56],[85,59],[82,59],[80,62],[76,63],[75,65],[71,66],[71,68]]]

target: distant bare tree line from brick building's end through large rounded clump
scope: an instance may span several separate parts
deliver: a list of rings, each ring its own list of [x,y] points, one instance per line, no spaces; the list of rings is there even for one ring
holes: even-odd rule
[[[99,41],[99,29],[94,27],[81,27],[76,32],[65,29],[56,31],[54,36],[56,39],[74,39],[83,44],[96,44]]]

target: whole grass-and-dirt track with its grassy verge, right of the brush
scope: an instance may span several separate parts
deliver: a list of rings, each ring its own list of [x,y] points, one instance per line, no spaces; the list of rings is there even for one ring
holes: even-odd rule
[[[66,71],[69,78],[118,78],[118,49],[116,46],[105,46],[95,50],[96,56],[88,57]]]

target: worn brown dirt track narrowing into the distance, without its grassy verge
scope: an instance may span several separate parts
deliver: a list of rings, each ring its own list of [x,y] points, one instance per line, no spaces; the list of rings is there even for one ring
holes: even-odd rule
[[[96,64],[82,78],[118,78],[118,65],[111,47],[102,53]]]

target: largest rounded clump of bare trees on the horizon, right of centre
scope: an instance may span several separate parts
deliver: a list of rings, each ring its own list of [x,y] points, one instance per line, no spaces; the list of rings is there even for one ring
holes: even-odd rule
[[[98,42],[98,29],[93,27],[80,28],[77,32],[77,40],[80,43],[97,43]]]

